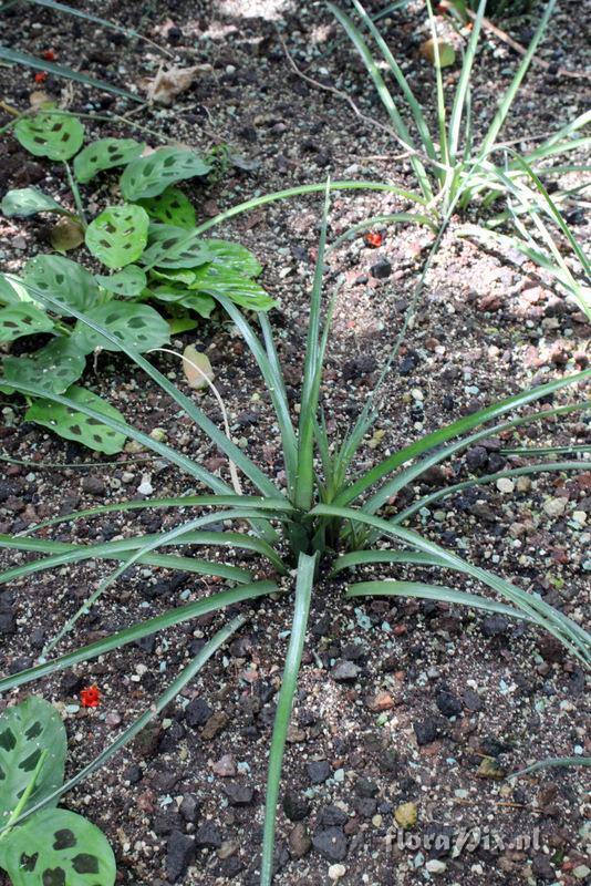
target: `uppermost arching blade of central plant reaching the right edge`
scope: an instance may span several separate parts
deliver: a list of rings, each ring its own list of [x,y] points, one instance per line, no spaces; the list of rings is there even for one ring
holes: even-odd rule
[[[521,393],[514,394],[505,400],[500,400],[498,403],[494,403],[490,406],[478,410],[478,412],[474,412],[470,415],[465,415],[452,424],[439,427],[437,431],[426,434],[425,436],[421,437],[421,440],[411,443],[408,446],[404,446],[404,449],[393,453],[393,455],[391,455],[388,459],[385,459],[381,464],[372,467],[370,471],[359,477],[359,480],[343,490],[343,492],[335,498],[335,504],[349,504],[349,502],[352,502],[357,497],[357,495],[364,493],[374,483],[377,483],[380,480],[382,480],[382,477],[386,476],[386,474],[390,474],[396,467],[400,467],[411,459],[416,459],[418,455],[423,455],[423,453],[428,452],[435,446],[439,446],[442,443],[446,443],[448,440],[452,440],[455,436],[460,436],[462,434],[471,431],[473,427],[476,427],[479,424],[491,421],[492,419],[504,415],[511,410],[523,406],[527,403],[531,403],[536,400],[540,400],[543,396],[548,396],[548,394],[551,394],[554,391],[564,388],[566,385],[584,381],[590,377],[591,369],[582,370],[581,372],[577,372],[576,374],[569,375],[566,379],[557,379],[556,381],[548,382],[539,388],[533,388],[530,391],[522,391]]]

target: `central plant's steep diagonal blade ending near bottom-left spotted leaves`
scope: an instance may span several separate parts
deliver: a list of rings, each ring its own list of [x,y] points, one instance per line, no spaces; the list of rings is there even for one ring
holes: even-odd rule
[[[125,748],[132,739],[134,739],[139,732],[142,732],[148,723],[154,720],[165,708],[168,707],[172,702],[175,701],[176,697],[185,689],[185,687],[190,683],[190,681],[197,676],[197,673],[201,670],[204,664],[211,658],[214,652],[216,652],[220,646],[222,646],[226,640],[228,640],[237,630],[239,630],[242,625],[247,621],[246,616],[237,616],[232,618],[227,625],[225,625],[221,630],[214,635],[214,637],[204,646],[204,648],[197,653],[197,656],[193,659],[193,661],[184,668],[178,677],[176,677],[173,682],[167,687],[167,689],[158,696],[158,698],[149,705],[149,708],[144,711],[144,713],[138,717],[133,723],[125,729],[121,735],[117,735],[115,741],[111,742],[101,753],[91,761],[84,769],[80,770],[75,775],[69,779],[61,787],[54,791],[52,794],[45,796],[42,801],[40,801],[37,805],[31,806],[27,810],[20,818],[15,820],[12,823],[12,826],[20,824],[29,815],[32,815],[39,810],[43,808],[48,803],[52,803],[53,801],[58,800],[63,794],[71,791],[76,784],[84,782],[89,779],[94,772],[96,772],[101,766],[111,760],[118,751]],[[6,828],[0,827],[0,835]]]

